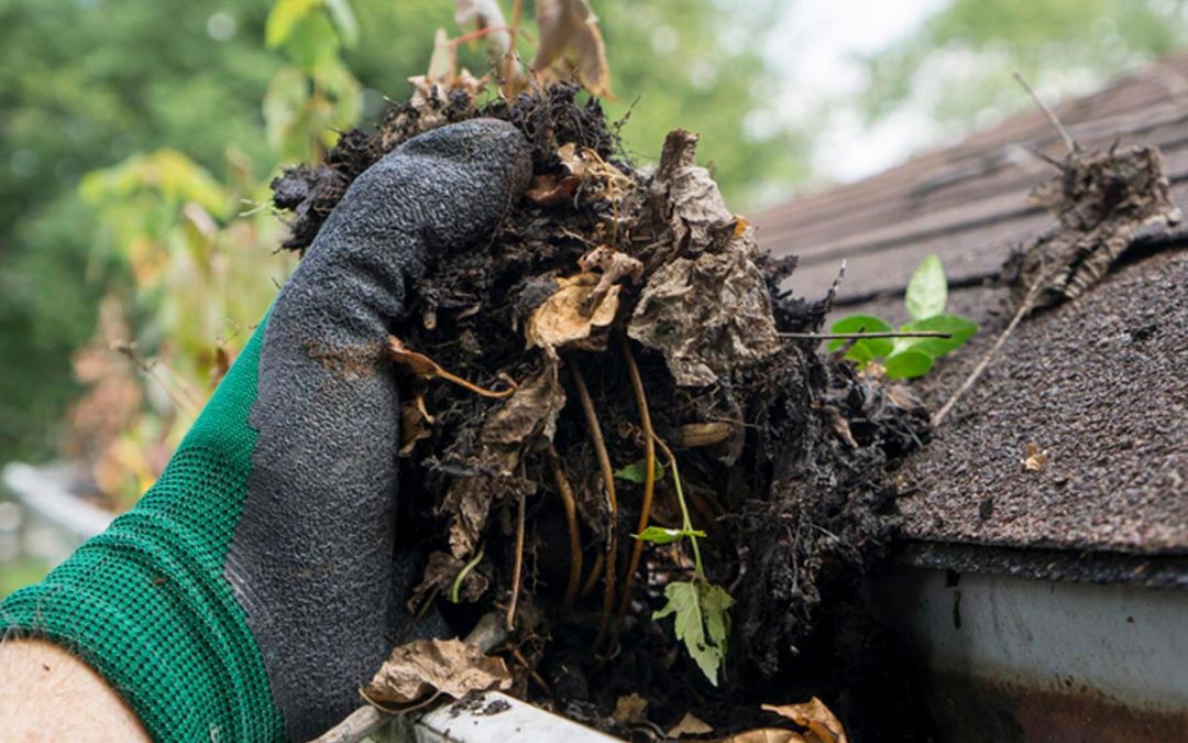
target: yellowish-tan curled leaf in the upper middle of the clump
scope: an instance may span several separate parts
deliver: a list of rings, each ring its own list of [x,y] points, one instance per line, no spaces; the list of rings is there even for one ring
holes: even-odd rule
[[[606,330],[619,311],[619,285],[607,289],[602,300],[590,307],[600,281],[598,273],[558,278],[557,291],[536,308],[525,323],[527,347],[539,346],[552,358],[557,358],[558,350],[567,347],[605,350]]]

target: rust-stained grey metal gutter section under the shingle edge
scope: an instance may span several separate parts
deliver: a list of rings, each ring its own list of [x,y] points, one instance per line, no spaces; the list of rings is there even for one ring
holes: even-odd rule
[[[897,567],[867,588],[944,741],[1188,739],[1188,591]]]

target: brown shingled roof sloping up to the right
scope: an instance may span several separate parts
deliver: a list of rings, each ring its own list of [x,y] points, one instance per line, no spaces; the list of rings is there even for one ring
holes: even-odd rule
[[[1188,55],[1060,106],[1087,147],[1155,144],[1188,203]],[[939,253],[952,311],[981,332],[920,385],[939,407],[1009,320],[987,281],[1011,248],[1051,226],[1026,203],[1062,155],[1042,113],[754,219],[760,245],[796,253],[790,284],[819,296],[847,262],[839,313],[903,321],[911,271]],[[1076,302],[1023,322],[934,441],[897,473],[910,537],[994,547],[1188,553],[1188,232],[1143,233]],[[1036,472],[1031,443],[1049,455]]]

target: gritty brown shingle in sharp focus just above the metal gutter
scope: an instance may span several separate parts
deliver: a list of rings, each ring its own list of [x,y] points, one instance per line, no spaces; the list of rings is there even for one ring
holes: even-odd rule
[[[966,297],[965,295],[968,295]],[[1006,291],[955,295],[985,321],[922,386],[937,407],[1006,323]],[[990,315],[986,308],[999,307]],[[1132,553],[1188,549],[1188,253],[1125,265],[1022,323],[899,478],[905,535]],[[1028,445],[1047,454],[1024,467]]]

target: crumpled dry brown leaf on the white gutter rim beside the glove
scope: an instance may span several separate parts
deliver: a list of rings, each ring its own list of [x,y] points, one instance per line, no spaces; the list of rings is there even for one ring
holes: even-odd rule
[[[368,701],[404,705],[441,692],[461,699],[470,692],[508,688],[503,659],[461,640],[416,640],[397,646],[364,690]]]

